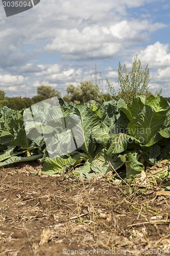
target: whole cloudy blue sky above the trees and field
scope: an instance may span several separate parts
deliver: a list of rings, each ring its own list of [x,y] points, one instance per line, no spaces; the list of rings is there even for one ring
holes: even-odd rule
[[[149,64],[150,91],[170,97],[170,3],[168,0],[41,0],[6,17],[0,8],[0,90],[33,97],[37,86],[65,94],[67,86],[102,72],[115,89],[118,62],[131,68],[138,53]]]

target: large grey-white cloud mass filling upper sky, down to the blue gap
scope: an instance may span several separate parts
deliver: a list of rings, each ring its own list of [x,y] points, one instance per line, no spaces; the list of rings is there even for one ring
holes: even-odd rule
[[[9,17],[12,24],[6,22],[2,25],[0,60],[5,59],[2,65],[23,65],[24,61],[30,61],[43,50],[61,53],[64,60],[114,57],[134,41],[142,42],[145,31],[152,32],[163,26],[147,19],[122,20],[127,16],[127,6],[136,7],[149,2],[153,1],[42,2],[29,10],[28,16]],[[29,45],[34,49],[38,47],[29,52],[26,45],[27,48]]]

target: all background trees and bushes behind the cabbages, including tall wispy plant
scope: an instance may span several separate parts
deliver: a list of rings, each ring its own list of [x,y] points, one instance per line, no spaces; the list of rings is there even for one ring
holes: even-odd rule
[[[119,90],[116,92],[113,84],[107,79],[108,93],[100,90],[98,85],[93,84],[91,81],[81,82],[79,86],[69,84],[66,89],[66,94],[62,97],[67,103],[73,102],[75,104],[86,103],[89,100],[103,103],[112,99],[118,100],[123,98],[126,103],[135,98],[137,95],[153,95],[149,91],[150,71],[148,65],[142,69],[142,64],[138,55],[136,54],[132,64],[132,70],[127,71],[126,65],[122,67],[118,65],[118,85]],[[32,98],[21,97],[6,97],[6,93],[0,90],[0,106],[8,106],[14,110],[22,110],[29,108],[30,105],[40,102],[42,100],[57,96],[61,97],[61,93],[51,86],[37,87],[37,95]],[[170,98],[165,98],[170,102]]]

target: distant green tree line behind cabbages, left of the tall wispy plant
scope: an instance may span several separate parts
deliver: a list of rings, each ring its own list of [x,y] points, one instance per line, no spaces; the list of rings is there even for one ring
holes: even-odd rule
[[[13,110],[22,110],[24,108],[29,108],[32,104],[55,96],[60,98],[61,93],[51,86],[43,85],[37,87],[37,95],[32,98],[6,97],[6,93],[0,90],[0,107],[8,106],[8,108]],[[106,101],[112,99],[112,96],[109,93],[104,94],[103,96]],[[89,100],[95,100],[96,102],[102,103],[99,88],[91,81],[81,82],[78,87],[69,84],[66,89],[66,94],[62,98],[67,103],[72,101],[75,104],[85,103]]]

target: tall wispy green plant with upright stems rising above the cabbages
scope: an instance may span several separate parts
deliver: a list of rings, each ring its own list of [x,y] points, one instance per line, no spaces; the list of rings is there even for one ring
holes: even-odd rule
[[[132,64],[132,70],[127,71],[126,65],[124,68],[118,65],[118,85],[120,89],[115,92],[113,84],[107,80],[110,92],[116,98],[122,98],[126,103],[131,101],[137,95],[145,95],[149,89],[150,71],[148,65],[142,69],[142,64],[138,55],[136,54]]]

